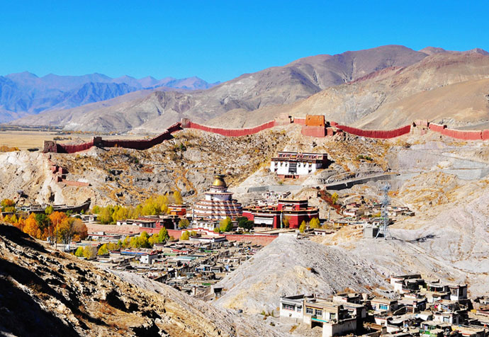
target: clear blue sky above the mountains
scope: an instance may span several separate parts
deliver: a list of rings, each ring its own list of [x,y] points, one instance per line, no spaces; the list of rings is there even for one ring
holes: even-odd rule
[[[388,44],[489,50],[489,1],[0,0],[0,74],[226,81]]]

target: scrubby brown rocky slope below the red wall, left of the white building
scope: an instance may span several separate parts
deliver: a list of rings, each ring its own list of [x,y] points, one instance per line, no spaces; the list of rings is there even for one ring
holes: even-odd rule
[[[90,183],[81,187],[54,181],[47,154],[6,152],[0,154],[0,194],[14,198],[22,190],[28,203],[76,205],[91,198],[105,205],[137,204],[178,189],[191,199],[208,188],[215,173],[227,173],[227,183],[237,185],[288,142],[284,130],[237,139],[198,130],[174,136],[145,151],[94,147],[79,154],[51,154],[52,162],[69,172],[69,181]]]

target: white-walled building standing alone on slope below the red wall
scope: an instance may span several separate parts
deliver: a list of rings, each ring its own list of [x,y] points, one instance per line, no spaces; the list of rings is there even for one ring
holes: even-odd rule
[[[271,159],[270,171],[279,176],[304,176],[326,165],[327,154],[279,152]]]

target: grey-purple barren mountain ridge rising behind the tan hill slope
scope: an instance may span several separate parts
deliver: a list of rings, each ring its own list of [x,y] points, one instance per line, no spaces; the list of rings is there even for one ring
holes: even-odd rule
[[[56,120],[60,121],[58,125],[69,130],[157,132],[182,117],[202,122],[232,110],[246,113],[294,103],[330,86],[354,81],[388,67],[406,67],[426,56],[398,45],[339,55],[317,55],[283,67],[244,74],[206,91],[155,92],[111,108],[83,113],[79,110],[60,111],[55,115],[24,118],[16,123],[53,125]]]

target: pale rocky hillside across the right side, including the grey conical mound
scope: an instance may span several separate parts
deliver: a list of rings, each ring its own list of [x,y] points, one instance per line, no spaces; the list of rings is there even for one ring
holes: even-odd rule
[[[291,139],[286,149],[292,149],[293,142],[308,150],[307,142],[297,139]],[[333,165],[343,164],[352,171],[368,169],[354,166],[352,148],[356,144],[356,153],[369,154],[377,166],[386,165],[400,173],[389,181],[390,198],[393,205],[410,207],[415,216],[400,218],[390,226],[392,237],[388,240],[366,239],[362,228],[356,226],[317,236],[311,239],[313,242],[279,236],[221,281],[226,293],[217,300],[218,305],[245,305],[250,312],[271,312],[276,310],[281,295],[327,295],[342,290],[342,285],[382,292],[389,289],[383,280],[405,273],[467,283],[474,297],[489,292],[489,260],[485,253],[489,244],[487,144],[457,142],[433,134],[410,135],[392,142],[333,142],[317,142],[309,149],[325,149],[334,159]],[[317,205],[316,191],[309,193],[307,188],[311,181],[303,181],[298,188],[288,186],[291,198],[311,198],[310,205]],[[253,184],[274,183],[269,174],[257,171],[242,183]],[[340,200],[359,200],[361,195],[378,200],[381,184],[369,182],[338,191]],[[327,217],[327,211],[320,208],[320,216]]]

